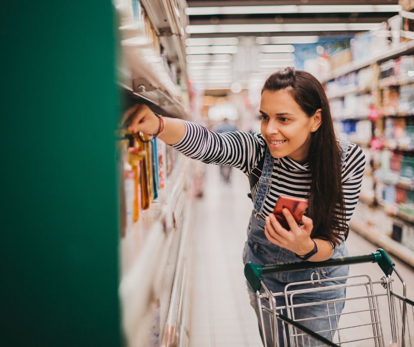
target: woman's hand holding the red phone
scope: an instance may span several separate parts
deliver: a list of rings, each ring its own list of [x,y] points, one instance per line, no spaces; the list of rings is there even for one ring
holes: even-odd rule
[[[303,216],[303,225],[299,227],[288,209],[284,208],[282,212],[291,230],[288,231],[283,228],[276,217],[273,214],[270,214],[266,217],[266,225],[264,228],[266,238],[270,242],[289,249],[297,255],[305,255],[309,253],[314,247],[310,238],[313,229],[312,220]]]

